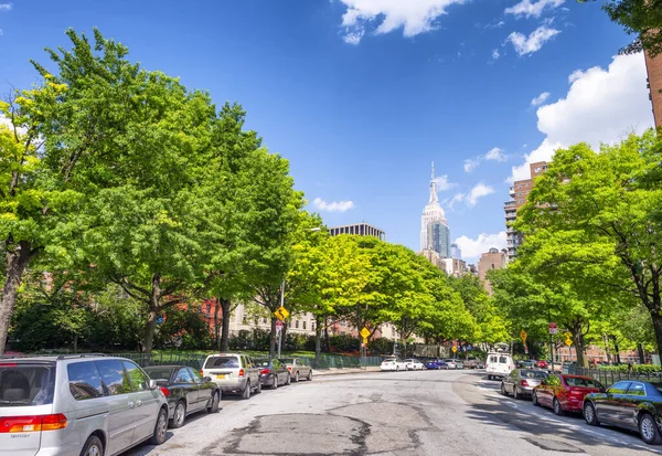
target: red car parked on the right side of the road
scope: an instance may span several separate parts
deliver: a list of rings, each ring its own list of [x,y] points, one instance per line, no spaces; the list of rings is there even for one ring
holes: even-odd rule
[[[552,407],[554,413],[581,412],[584,396],[588,393],[602,393],[605,388],[590,377],[559,375],[547,377],[540,386],[533,389],[533,405]]]

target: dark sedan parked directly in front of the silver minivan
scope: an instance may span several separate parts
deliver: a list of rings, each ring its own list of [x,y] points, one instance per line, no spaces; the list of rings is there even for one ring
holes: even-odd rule
[[[221,390],[209,377],[203,378],[185,365],[151,365],[143,369],[168,400],[170,427],[182,427],[188,415],[206,410],[218,412]]]

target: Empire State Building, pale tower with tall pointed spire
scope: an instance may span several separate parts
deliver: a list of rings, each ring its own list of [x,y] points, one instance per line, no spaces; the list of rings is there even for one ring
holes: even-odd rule
[[[450,229],[437,197],[434,162],[430,200],[423,210],[423,216],[420,218],[420,250],[435,251],[441,258],[450,258]]]

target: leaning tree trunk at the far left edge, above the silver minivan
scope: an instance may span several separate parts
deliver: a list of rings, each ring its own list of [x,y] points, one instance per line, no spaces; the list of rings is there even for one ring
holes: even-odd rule
[[[10,246],[11,244],[11,240],[8,240],[6,246]],[[31,252],[30,243],[26,241],[20,242],[19,247],[13,251],[8,248],[4,254],[7,277],[2,289],[2,299],[0,300],[0,354],[4,353],[11,316],[17,304],[19,287],[23,282],[23,272],[35,254]]]

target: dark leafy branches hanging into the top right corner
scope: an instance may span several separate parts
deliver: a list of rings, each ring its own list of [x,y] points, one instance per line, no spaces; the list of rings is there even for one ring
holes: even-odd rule
[[[628,34],[637,35],[621,52],[633,54],[645,50],[651,56],[662,52],[662,0],[607,0],[602,9]]]

